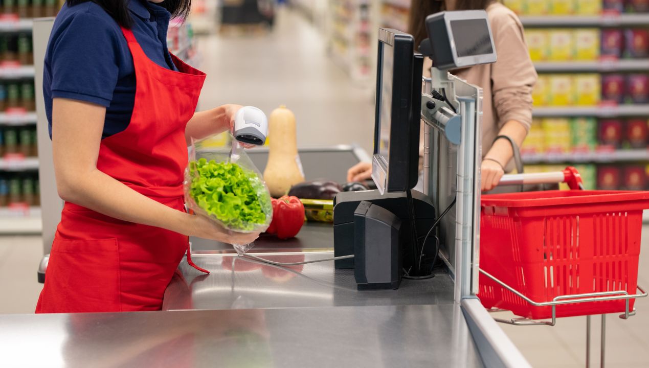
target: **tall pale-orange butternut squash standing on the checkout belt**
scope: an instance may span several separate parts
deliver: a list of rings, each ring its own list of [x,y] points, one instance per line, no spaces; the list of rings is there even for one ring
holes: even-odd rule
[[[268,117],[268,162],[263,171],[271,195],[275,198],[285,195],[293,184],[304,181],[302,164],[297,154],[295,115],[280,106]]]

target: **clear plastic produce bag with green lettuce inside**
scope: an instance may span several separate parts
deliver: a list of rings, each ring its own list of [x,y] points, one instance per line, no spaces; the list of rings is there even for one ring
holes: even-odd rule
[[[273,220],[271,195],[239,142],[215,143],[217,136],[192,141],[185,170],[188,208],[232,232],[263,232]],[[232,147],[234,146],[234,149]],[[239,255],[253,247],[233,244]]]

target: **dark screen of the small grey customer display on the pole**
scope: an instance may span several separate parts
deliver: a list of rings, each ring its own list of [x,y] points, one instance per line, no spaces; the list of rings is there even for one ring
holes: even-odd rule
[[[450,29],[459,57],[493,53],[487,19],[452,20]]]

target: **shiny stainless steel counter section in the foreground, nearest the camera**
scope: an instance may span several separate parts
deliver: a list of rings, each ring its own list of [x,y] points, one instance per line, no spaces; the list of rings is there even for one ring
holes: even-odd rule
[[[3,367],[482,367],[460,307],[0,315]]]

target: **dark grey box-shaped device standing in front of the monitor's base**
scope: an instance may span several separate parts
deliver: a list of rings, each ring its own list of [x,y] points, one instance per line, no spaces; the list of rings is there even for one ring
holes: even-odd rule
[[[401,220],[362,201],[354,212],[354,278],[359,290],[397,289],[401,282]]]

